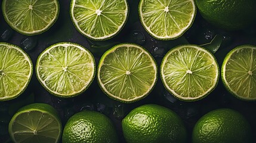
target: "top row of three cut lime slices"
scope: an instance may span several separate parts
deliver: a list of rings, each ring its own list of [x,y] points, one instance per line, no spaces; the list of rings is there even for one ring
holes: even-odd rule
[[[60,12],[57,0],[4,0],[2,11],[7,23],[24,35],[47,31]],[[93,40],[105,40],[118,34],[128,19],[127,0],[72,0],[70,15],[76,29]],[[156,39],[169,40],[183,35],[196,15],[193,0],[141,0],[141,23]]]

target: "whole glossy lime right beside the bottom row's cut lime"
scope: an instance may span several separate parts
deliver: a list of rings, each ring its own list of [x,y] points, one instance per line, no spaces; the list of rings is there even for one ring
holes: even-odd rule
[[[62,136],[63,143],[111,142],[117,143],[115,126],[104,114],[84,110],[67,121]]]

